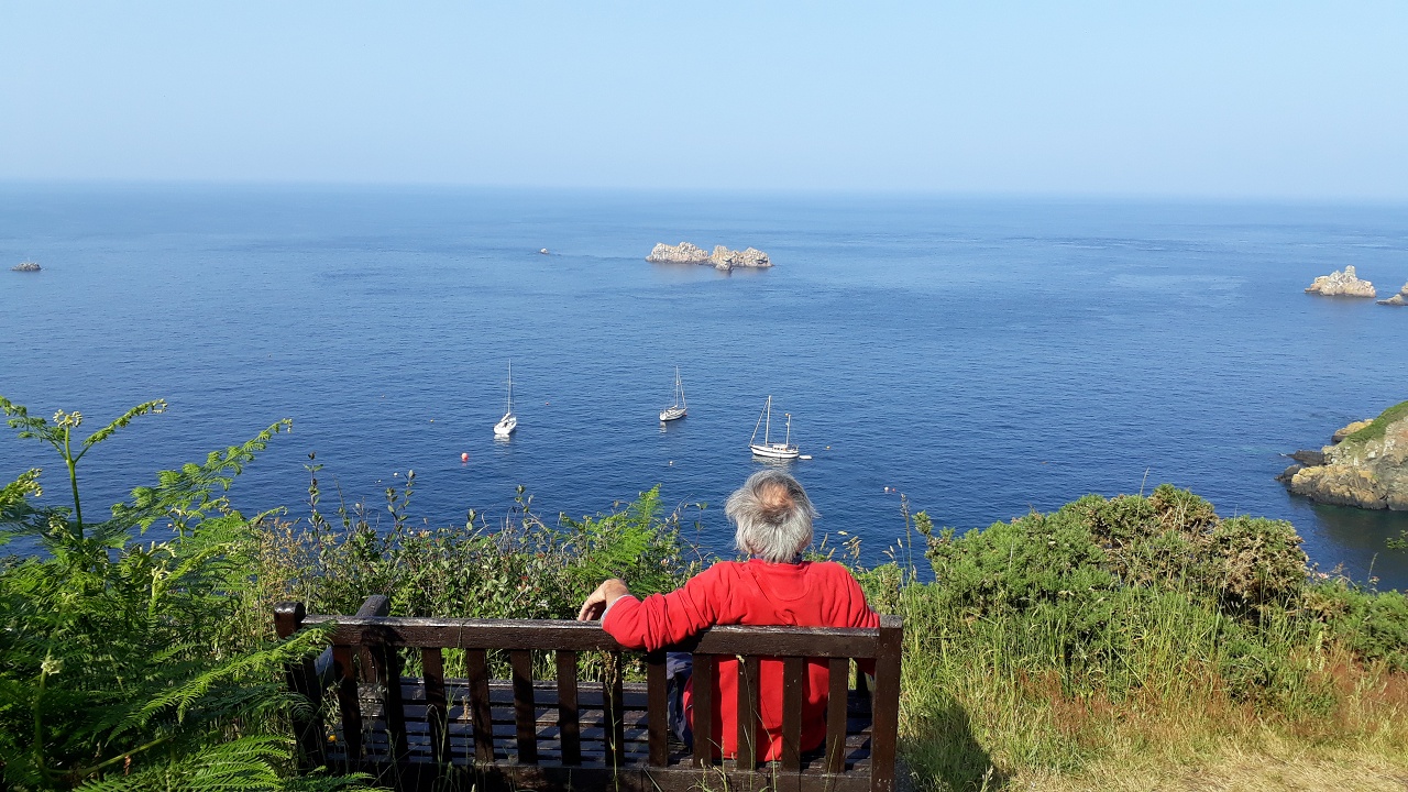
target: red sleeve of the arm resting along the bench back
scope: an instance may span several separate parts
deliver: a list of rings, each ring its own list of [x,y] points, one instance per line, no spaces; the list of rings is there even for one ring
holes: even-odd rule
[[[607,610],[601,629],[634,650],[655,651],[677,644],[725,616],[728,583],[724,572],[724,564],[715,564],[667,595],[650,595],[643,600],[624,596]]]

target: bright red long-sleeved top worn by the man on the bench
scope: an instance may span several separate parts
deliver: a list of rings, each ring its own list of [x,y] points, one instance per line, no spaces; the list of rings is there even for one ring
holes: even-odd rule
[[[800,627],[879,627],[880,617],[866,605],[860,585],[845,567],[832,561],[769,564],[721,561],[690,578],[667,595],[618,599],[601,619],[601,627],[621,644],[655,651],[694,636],[712,624],[793,624]],[[801,748],[810,751],[826,738],[825,661],[807,664],[803,696]],[[693,685],[693,679],[690,681]],[[684,692],[690,709],[691,689]],[[738,755],[738,661],[719,658],[714,681],[712,738],[724,757]],[[759,664],[759,705],[766,729],[765,761],[781,757],[783,664]],[[698,734],[694,736],[700,738]],[[759,743],[765,737],[759,736]],[[760,744],[760,748],[765,745]]]

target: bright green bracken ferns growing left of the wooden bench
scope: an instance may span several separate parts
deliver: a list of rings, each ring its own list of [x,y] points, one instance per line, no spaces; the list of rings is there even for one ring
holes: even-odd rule
[[[298,702],[277,671],[320,641],[232,643],[232,593],[249,576],[249,523],[222,492],[280,421],[201,464],[166,471],[103,521],[86,521],[77,462],[149,402],[79,441],[79,413],[31,417],[0,397],[20,438],[63,459],[72,505],[35,506],[39,469],[0,490],[0,537],[31,537],[44,557],[0,569],[0,767],[4,786],[280,789],[344,781],[287,774],[280,722]],[[163,521],[175,538],[142,544]],[[272,731],[265,730],[272,729]]]

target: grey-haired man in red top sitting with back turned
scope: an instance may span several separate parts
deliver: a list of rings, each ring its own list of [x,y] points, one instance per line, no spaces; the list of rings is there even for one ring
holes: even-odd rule
[[[610,579],[582,605],[579,621],[601,619],[601,627],[621,644],[655,651],[677,644],[714,624],[793,624],[800,627],[877,627],[880,617],[866,605],[860,585],[841,564],[803,561],[811,544],[817,510],[797,479],[780,471],[760,471],[728,497],[724,513],[736,526],[738,550],[748,561],[721,561],[666,595],[636,599],[624,581]],[[826,736],[825,662],[807,667],[803,699],[803,750]],[[693,679],[684,688],[683,709],[691,722]],[[738,661],[721,658],[712,681],[711,741],[722,757],[738,755]],[[759,714],[763,760],[781,755],[783,664],[759,664]]]

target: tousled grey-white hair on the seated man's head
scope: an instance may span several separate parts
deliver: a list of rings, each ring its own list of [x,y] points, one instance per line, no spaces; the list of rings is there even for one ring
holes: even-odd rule
[[[724,503],[738,526],[738,550],[763,561],[793,562],[811,544],[811,521],[821,514],[797,479],[781,471],[759,471]]]

